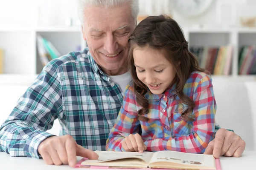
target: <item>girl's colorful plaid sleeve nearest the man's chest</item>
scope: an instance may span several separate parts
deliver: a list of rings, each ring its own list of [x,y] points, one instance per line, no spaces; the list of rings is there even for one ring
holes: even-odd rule
[[[140,121],[137,118],[137,106],[133,87],[128,85],[125,89],[123,105],[109,133],[106,150],[125,151],[121,146],[122,140],[130,134],[138,133],[139,127]]]

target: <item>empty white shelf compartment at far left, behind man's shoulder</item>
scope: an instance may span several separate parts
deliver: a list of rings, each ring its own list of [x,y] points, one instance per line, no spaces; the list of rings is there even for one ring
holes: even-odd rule
[[[4,73],[35,74],[35,44],[28,30],[0,31],[0,48],[4,50]]]

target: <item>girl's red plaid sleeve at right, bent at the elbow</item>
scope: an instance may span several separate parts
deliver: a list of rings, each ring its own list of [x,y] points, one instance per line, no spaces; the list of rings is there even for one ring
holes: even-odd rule
[[[193,101],[195,116],[191,133],[183,136],[168,136],[145,141],[148,151],[175,150],[186,153],[204,153],[215,131],[216,102],[212,81],[208,75],[194,83]]]

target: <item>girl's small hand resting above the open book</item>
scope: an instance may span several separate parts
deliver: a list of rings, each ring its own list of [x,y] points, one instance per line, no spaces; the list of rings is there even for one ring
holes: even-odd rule
[[[147,149],[141,136],[138,133],[134,135],[130,134],[121,142],[121,144],[122,144],[122,148],[125,151],[129,151],[129,152],[136,151],[136,152],[143,153],[143,151]]]

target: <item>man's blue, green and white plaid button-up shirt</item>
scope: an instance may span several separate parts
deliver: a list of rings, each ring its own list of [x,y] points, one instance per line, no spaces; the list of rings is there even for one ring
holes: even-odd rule
[[[123,93],[87,49],[50,61],[0,127],[0,151],[39,158],[46,130],[59,119],[60,135],[90,150],[105,150]],[[216,127],[218,128],[218,127]]]

